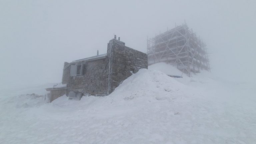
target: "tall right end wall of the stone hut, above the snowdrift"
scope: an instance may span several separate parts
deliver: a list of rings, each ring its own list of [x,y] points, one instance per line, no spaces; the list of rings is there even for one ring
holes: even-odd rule
[[[111,43],[111,44],[110,44]],[[132,73],[139,69],[148,68],[148,56],[145,53],[126,47],[118,40],[111,40],[108,44],[108,53],[111,49],[111,90],[114,89]]]

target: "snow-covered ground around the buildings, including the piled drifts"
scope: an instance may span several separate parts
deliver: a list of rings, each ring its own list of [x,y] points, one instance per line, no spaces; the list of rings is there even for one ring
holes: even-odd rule
[[[42,94],[53,84],[2,91],[0,143],[256,142],[255,84],[223,81],[209,72],[173,78],[165,73],[172,74],[168,70],[175,68],[163,66],[140,70],[109,96],[84,96],[80,101],[62,96],[46,104],[43,96],[26,95],[29,91]],[[17,96],[19,92],[25,95]]]

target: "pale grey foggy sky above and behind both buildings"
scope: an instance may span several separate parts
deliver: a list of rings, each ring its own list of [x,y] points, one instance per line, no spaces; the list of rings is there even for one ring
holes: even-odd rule
[[[61,82],[64,62],[104,54],[121,37],[146,52],[147,37],[186,21],[206,43],[211,72],[256,76],[256,1],[0,1],[0,86]]]

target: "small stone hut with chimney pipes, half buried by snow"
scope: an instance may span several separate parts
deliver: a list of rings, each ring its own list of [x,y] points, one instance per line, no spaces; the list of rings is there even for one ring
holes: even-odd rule
[[[107,45],[107,53],[64,63],[62,84],[64,87],[47,88],[50,102],[59,96],[105,96],[132,73],[148,68],[147,54],[126,47],[116,36]]]

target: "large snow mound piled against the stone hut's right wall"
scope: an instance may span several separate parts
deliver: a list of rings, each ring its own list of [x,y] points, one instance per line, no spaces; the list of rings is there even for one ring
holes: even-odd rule
[[[186,87],[175,78],[169,77],[156,70],[141,69],[128,77],[120,84],[110,97],[123,98],[125,100],[136,97],[169,97],[176,96],[177,92]],[[144,99],[144,98],[143,98]]]

